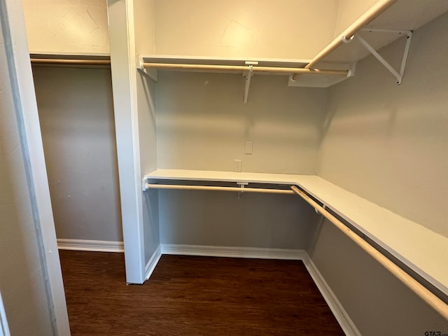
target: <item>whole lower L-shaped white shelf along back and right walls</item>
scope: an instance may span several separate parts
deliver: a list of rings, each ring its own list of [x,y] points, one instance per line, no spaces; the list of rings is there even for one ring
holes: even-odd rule
[[[297,185],[448,295],[448,238],[313,175],[157,169],[145,179]]]

